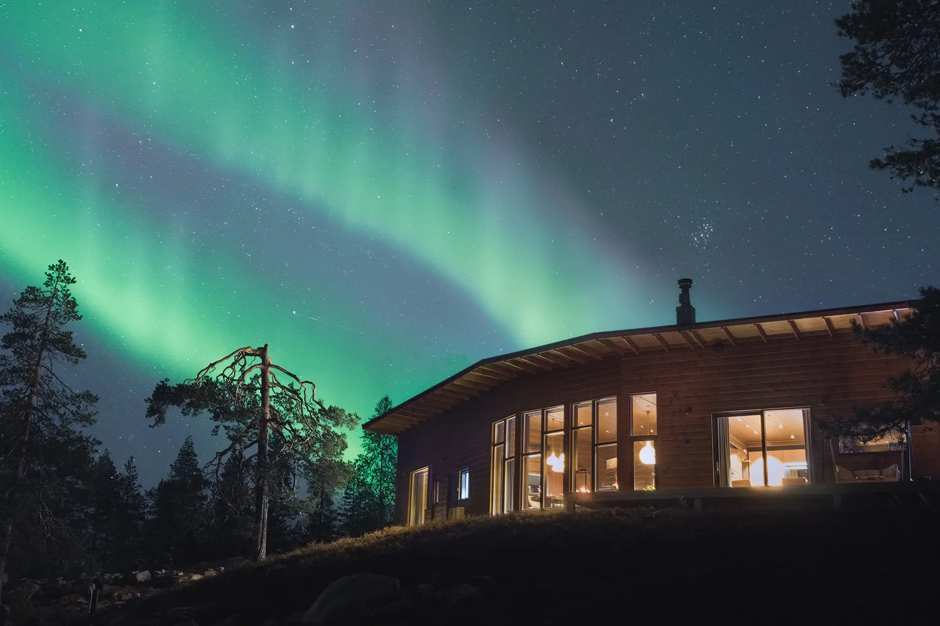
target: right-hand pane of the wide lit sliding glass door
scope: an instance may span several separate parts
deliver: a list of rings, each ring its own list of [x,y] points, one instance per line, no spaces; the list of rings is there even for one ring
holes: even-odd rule
[[[764,411],[767,429],[767,482],[797,485],[809,481],[803,409]],[[759,468],[763,474],[763,468]]]

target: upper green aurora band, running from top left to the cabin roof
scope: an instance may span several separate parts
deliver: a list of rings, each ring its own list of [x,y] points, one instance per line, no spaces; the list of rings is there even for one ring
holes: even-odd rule
[[[394,241],[473,294],[521,344],[630,313],[621,305],[632,285],[609,254],[559,216],[566,207],[547,208],[556,203],[528,184],[525,169],[502,169],[519,162],[500,154],[507,143],[459,145],[458,158],[473,162],[448,161],[440,145],[415,141],[407,122],[383,128],[298,70],[273,72],[251,50],[207,41],[202,24],[172,3],[5,10],[8,45],[30,71],[51,72],[163,141]],[[606,307],[586,306],[601,293]]]

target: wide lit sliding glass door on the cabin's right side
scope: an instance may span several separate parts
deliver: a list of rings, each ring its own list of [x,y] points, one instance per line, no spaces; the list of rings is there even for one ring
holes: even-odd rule
[[[809,410],[762,409],[714,417],[715,484],[762,487],[810,481]]]

